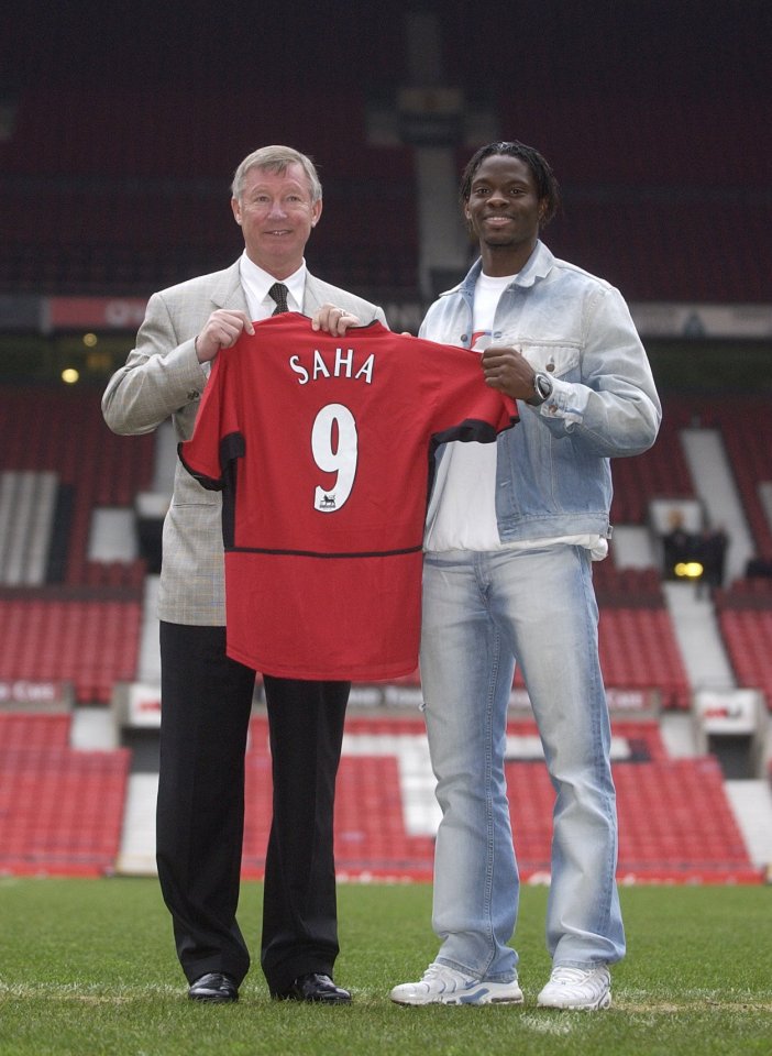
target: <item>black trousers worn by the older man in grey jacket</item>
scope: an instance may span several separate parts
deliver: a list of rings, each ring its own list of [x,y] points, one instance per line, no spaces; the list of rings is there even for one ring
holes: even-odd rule
[[[236,923],[244,752],[254,672],[225,656],[222,627],[161,624],[158,878],[189,981],[241,982],[250,955]],[[272,992],[338,955],[335,774],[348,682],[264,676],[274,816],[265,862],[261,963]]]

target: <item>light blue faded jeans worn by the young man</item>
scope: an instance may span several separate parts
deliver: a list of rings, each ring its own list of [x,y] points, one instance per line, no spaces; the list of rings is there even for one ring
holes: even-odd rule
[[[516,660],[555,789],[547,947],[553,965],[578,968],[625,954],[597,622],[584,548],[424,558],[421,681],[442,809],[432,925],[437,959],[478,979],[517,974],[507,944],[519,876],[504,773]]]

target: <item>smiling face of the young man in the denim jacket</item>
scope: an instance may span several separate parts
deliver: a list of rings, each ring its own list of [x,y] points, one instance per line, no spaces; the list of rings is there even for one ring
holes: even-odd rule
[[[527,162],[506,154],[484,158],[464,216],[479,241],[486,275],[515,275],[533,252],[545,202]]]

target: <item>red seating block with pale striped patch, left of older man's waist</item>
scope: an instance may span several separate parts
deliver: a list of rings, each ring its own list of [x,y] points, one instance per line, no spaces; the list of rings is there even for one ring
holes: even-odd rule
[[[91,562],[91,522],[148,486],[154,440],[112,436],[93,391],[0,398],[0,674],[106,704],[136,676],[144,566]]]

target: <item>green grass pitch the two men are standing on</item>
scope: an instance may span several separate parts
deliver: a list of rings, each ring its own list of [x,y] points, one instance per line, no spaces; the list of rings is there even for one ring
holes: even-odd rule
[[[0,879],[0,1056],[735,1056],[772,1054],[772,888],[621,891],[629,953],[607,1012],[536,1005],[549,975],[544,888],[522,892],[522,1007],[400,1008],[437,943],[426,884],[343,884],[337,979],[349,1008],[185,997],[154,880]],[[261,887],[242,890],[253,950]]]

